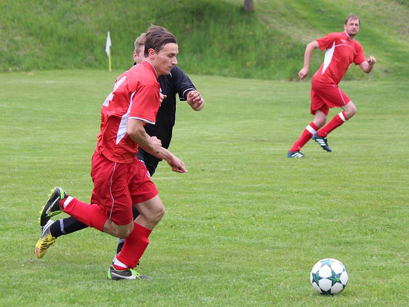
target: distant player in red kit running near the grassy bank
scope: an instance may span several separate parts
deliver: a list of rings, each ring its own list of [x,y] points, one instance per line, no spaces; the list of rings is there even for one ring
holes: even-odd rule
[[[308,43],[304,54],[304,67],[298,74],[300,79],[308,75],[314,49],[326,50],[325,58],[311,81],[311,114],[314,115],[314,120],[292,145],[287,153],[288,158],[303,158],[304,154],[300,150],[311,138],[318,142],[324,150],[332,151],[328,146],[327,135],[355,115],[355,104],[339,89],[337,84],[344,77],[352,62],[359,65],[367,74],[372,71],[376,63],[373,56],[365,59],[360,43],[354,39],[359,32],[359,24],[359,18],[351,14],[345,19],[344,32],[329,33]],[[330,107],[340,107],[343,111],[325,125]]]

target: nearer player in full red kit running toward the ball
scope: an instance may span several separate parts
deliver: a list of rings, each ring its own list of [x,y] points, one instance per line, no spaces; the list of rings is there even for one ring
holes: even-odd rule
[[[133,268],[148,246],[152,229],[165,213],[145,165],[135,156],[138,145],[166,160],[173,171],[187,171],[181,160],[144,129],[146,123],[155,123],[160,106],[157,77],[169,74],[177,64],[177,53],[173,34],[158,26],[147,30],[146,60],[118,77],[101,108],[101,131],[92,159],[91,203],[83,203],[57,187],[40,215],[41,226],[63,211],[87,226],[125,237],[122,251],[108,269],[109,279],[141,278]],[[132,204],[140,212],[135,221]]]

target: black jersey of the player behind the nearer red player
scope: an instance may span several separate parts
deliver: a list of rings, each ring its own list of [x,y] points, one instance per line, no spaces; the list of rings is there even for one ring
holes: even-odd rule
[[[156,114],[156,123],[145,126],[146,133],[151,137],[157,137],[162,142],[162,147],[168,149],[172,139],[172,129],[176,120],[176,94],[179,100],[186,100],[187,93],[196,91],[196,87],[189,77],[179,67],[175,66],[169,75],[159,76],[157,81],[161,84],[162,94],[167,97],[162,101]],[[157,164],[162,161],[142,148],[138,148],[138,158],[145,162],[149,173],[155,172]]]

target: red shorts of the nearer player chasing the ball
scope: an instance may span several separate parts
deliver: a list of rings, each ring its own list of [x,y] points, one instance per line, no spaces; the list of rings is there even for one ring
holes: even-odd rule
[[[145,164],[137,157],[131,163],[119,163],[94,152],[91,177],[94,182],[91,203],[104,209],[117,225],[132,222],[132,204],[145,202],[157,195]]]

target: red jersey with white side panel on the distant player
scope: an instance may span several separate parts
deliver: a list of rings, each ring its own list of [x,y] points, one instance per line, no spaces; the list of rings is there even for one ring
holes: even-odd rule
[[[329,33],[316,41],[321,50],[326,49],[324,62],[313,76],[317,81],[338,84],[352,62],[359,65],[366,60],[360,43],[346,32]]]

